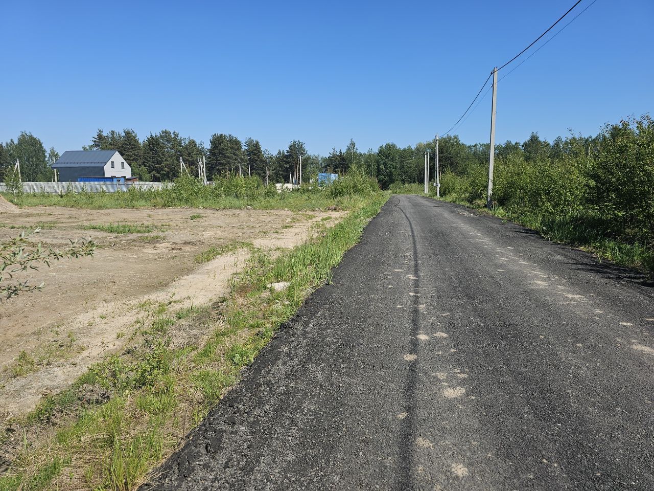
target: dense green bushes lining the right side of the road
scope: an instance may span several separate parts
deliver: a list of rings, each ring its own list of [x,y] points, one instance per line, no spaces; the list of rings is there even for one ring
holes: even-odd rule
[[[486,185],[487,166],[476,164],[441,177],[445,199],[477,206]],[[551,240],[654,270],[653,120],[622,120],[593,138],[550,144],[532,133],[522,144],[498,145],[493,206]]]

